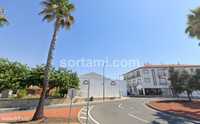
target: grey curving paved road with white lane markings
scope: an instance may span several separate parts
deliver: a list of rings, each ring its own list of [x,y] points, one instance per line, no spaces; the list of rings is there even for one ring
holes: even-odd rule
[[[150,98],[133,98],[122,102],[95,105],[90,109],[91,124],[200,124],[148,108]]]

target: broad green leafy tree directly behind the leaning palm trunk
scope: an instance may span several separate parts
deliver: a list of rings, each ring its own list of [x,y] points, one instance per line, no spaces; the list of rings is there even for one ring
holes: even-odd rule
[[[44,70],[44,65],[38,65],[35,68],[32,68],[23,85],[26,87],[31,85],[42,87]],[[79,78],[76,73],[69,71],[66,68],[51,68],[49,72],[49,88],[46,96],[48,96],[49,91],[54,88],[57,88],[59,95],[64,97],[69,88],[79,88]]]

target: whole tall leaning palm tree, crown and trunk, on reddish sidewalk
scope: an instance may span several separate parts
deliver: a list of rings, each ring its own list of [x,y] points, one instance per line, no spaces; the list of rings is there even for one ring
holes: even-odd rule
[[[54,32],[45,66],[42,93],[32,120],[43,118],[45,96],[49,87],[48,75],[52,64],[58,32],[62,28],[69,29],[74,22],[74,17],[71,13],[74,11],[75,7],[69,0],[44,0],[42,5],[44,8],[39,14],[43,16],[43,21],[54,22]]]

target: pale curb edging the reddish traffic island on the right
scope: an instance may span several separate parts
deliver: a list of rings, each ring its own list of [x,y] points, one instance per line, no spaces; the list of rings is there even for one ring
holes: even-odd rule
[[[160,110],[159,108],[157,108],[157,107],[155,107],[153,105],[150,105],[150,103],[146,103],[146,106],[148,106],[151,109],[154,109],[156,111],[163,112],[163,113],[166,113],[166,114],[171,114],[171,115],[174,115],[174,116],[184,117],[184,118],[187,118],[187,119],[190,119],[190,120],[194,120],[194,121],[200,121],[200,119],[197,119],[197,118],[194,118],[194,117],[190,117],[190,116],[186,116],[186,115],[182,115],[182,114],[178,114],[176,112],[168,112],[168,111]]]

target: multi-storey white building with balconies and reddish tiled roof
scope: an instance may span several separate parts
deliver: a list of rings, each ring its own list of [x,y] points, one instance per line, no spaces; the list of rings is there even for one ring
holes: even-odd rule
[[[187,70],[189,73],[200,69],[200,65],[144,65],[126,74],[129,95],[163,95],[171,96],[171,83],[169,78],[169,68],[175,70]],[[183,95],[183,94],[182,94]],[[194,92],[193,96],[199,96],[200,92]]]

